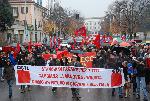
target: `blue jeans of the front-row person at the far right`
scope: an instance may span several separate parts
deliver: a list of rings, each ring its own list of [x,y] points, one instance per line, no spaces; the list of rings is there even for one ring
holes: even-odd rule
[[[144,94],[144,98],[147,99],[147,90],[146,90],[146,82],[145,77],[136,77],[137,89],[136,93],[140,95],[140,91]]]

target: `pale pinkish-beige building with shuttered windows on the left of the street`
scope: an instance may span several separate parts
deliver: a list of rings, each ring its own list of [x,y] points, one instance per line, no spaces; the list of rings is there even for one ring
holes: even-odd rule
[[[43,32],[43,21],[48,17],[48,9],[34,0],[9,0],[13,16],[13,26],[9,29],[13,42],[42,42],[46,35]]]

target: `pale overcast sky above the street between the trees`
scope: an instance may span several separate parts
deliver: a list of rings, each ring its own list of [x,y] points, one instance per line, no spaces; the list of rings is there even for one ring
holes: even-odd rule
[[[43,0],[45,1],[45,0]],[[76,9],[84,17],[103,17],[115,0],[59,0],[65,8]]]

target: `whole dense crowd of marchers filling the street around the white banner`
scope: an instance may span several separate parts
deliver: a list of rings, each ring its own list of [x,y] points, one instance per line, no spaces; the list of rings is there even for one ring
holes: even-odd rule
[[[144,101],[148,101],[149,83],[150,83],[150,68],[147,60],[150,58],[150,48],[148,45],[133,45],[131,47],[122,48],[116,46],[104,46],[100,49],[95,47],[79,47],[80,50],[86,52],[96,52],[96,57],[93,59],[93,68],[106,68],[117,70],[118,72],[123,70],[125,85],[119,88],[112,89],[112,96],[115,96],[118,90],[120,98],[129,97],[131,94],[135,95],[137,99],[140,99],[140,92],[142,91]],[[116,48],[116,49],[115,49]],[[71,62],[67,57],[62,56],[58,59],[57,56],[44,60],[43,53],[56,53],[58,50],[67,50],[70,52],[70,48],[63,47],[56,50],[46,48],[45,46],[32,47],[32,52],[28,52],[28,49],[21,50],[16,57],[13,56],[13,51],[2,52],[0,55],[0,77],[3,82],[7,80],[9,85],[9,98],[12,97],[12,85],[15,80],[14,69],[15,65],[36,65],[36,66],[75,66],[82,67],[80,63],[80,57],[77,53],[74,53]],[[127,51],[126,51],[127,50]],[[21,85],[21,93],[25,93],[27,90],[31,91],[31,86]],[[72,88],[73,98],[80,98],[79,89]],[[57,91],[56,87],[52,88],[52,92]]]

